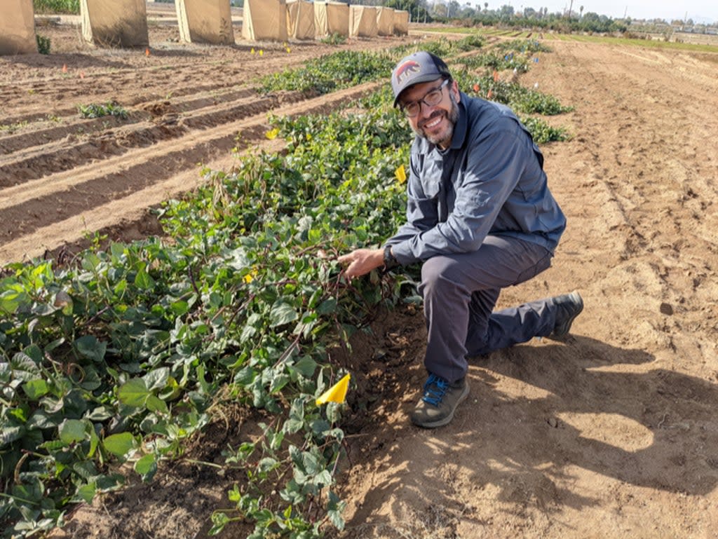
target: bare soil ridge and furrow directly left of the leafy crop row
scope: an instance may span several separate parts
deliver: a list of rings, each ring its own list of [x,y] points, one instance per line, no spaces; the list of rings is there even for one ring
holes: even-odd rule
[[[365,95],[380,84],[382,83],[367,83],[349,90],[281,106],[274,112],[278,115],[324,113],[347,100]],[[0,191],[0,242],[5,243],[4,260],[1,262],[6,263],[18,256],[38,256],[41,254],[38,250],[52,249],[65,241],[77,240],[76,237],[62,238],[62,235],[53,237],[60,231],[60,234],[65,233],[64,227],[55,227],[55,224],[69,219],[77,226],[78,222],[87,221],[85,212],[102,207],[108,200],[125,200],[124,204],[130,204],[129,207],[136,210],[136,200],[129,199],[132,202],[127,202],[126,197],[164,179],[169,179],[172,183],[172,177],[177,174],[182,175],[181,184],[185,189],[191,187],[187,184],[186,172],[191,172],[196,184],[199,176],[197,162],[206,163],[214,157],[230,154],[230,149],[237,144],[236,135],[239,131],[242,132],[243,142],[248,144],[261,139],[267,128],[265,114],[256,113],[248,119],[233,121],[205,131],[190,131],[188,136],[181,139],[162,141],[147,149],[113,157],[104,161],[100,167],[88,165],[42,181]],[[162,197],[166,198],[166,188],[160,191]],[[164,200],[162,197],[145,196],[141,199],[144,200],[141,207],[157,205]],[[104,210],[101,210],[101,213],[103,212]],[[117,220],[122,217],[123,215],[116,215]],[[14,251],[13,245],[27,246],[28,242],[22,240],[20,243],[14,243],[11,238],[32,235],[38,231],[42,231],[42,243],[38,243],[34,250],[22,254]],[[47,247],[48,245],[51,246]]]

